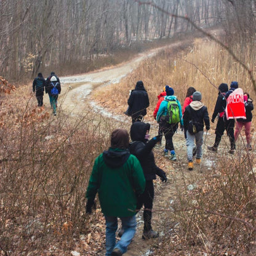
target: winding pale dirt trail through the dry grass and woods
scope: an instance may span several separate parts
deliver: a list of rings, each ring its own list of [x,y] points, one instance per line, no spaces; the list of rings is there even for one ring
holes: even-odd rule
[[[177,46],[178,43],[172,44],[169,47]],[[108,84],[114,84],[119,82],[121,78],[124,78],[132,70],[134,70],[142,60],[152,57],[161,49],[154,49],[150,52],[140,54],[134,60],[123,63],[115,68],[109,68],[107,70],[99,70],[88,74],[82,74],[79,76],[68,76],[60,78],[62,83],[63,92],[60,95],[60,102],[62,102],[62,109],[66,114],[71,116],[79,115],[89,103],[98,108],[102,114],[108,116],[108,111],[105,111],[100,106],[96,106],[94,102],[89,100],[89,95],[92,90],[98,86],[107,86]],[[98,111],[97,110],[97,111]],[[113,116],[121,122],[130,122],[130,118],[127,118],[124,114]],[[158,133],[158,125],[156,122],[151,123],[151,135]],[[214,140],[214,133],[208,132],[204,137],[209,145]],[[164,144],[164,142],[163,142]],[[161,236],[164,236],[164,230],[166,230],[166,222],[172,222],[174,220],[166,220],[166,212],[162,209],[171,209],[172,202],[177,198],[177,186],[186,189],[187,185],[194,185],[198,182],[199,177],[202,175],[202,170],[211,169],[215,165],[216,154],[207,152],[206,145],[204,145],[204,156],[202,158],[201,166],[195,166],[192,172],[187,170],[186,167],[186,144],[183,132],[178,129],[177,134],[174,135],[174,146],[177,153],[177,161],[171,162],[162,156],[162,148],[154,149],[157,164],[161,163],[162,169],[166,171],[168,182],[161,183],[159,178],[155,182],[155,199],[153,207],[153,228],[158,230]],[[142,212],[138,214],[138,228],[132,244],[124,256],[146,256],[150,254],[152,246],[158,245],[158,239],[153,241],[145,241],[142,239]],[[99,252],[99,256],[103,256],[105,250]]]

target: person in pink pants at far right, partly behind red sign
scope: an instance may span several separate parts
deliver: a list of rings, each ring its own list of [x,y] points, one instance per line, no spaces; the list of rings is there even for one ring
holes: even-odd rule
[[[244,126],[246,132],[247,150],[252,150],[250,145],[250,127],[252,125],[252,110],[254,110],[253,100],[247,92],[244,92],[244,106],[246,107],[246,119],[236,119],[236,129],[234,130],[234,141],[238,140],[238,135],[241,133]]]

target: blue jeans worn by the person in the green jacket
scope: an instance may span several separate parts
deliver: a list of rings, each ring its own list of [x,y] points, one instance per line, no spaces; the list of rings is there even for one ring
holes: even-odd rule
[[[106,220],[106,256],[110,256],[114,248],[118,248],[124,254],[127,251],[132,238],[136,232],[136,217],[121,217],[122,234],[119,242],[116,243],[116,230],[118,229],[118,217],[105,216]]]

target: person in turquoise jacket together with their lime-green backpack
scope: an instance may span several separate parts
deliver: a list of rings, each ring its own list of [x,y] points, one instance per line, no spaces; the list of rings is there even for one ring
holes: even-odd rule
[[[172,113],[175,116],[175,120],[170,119],[170,114],[168,110],[168,105],[171,107],[170,103],[174,104],[175,113]],[[176,154],[174,150],[174,143],[172,142],[172,137],[174,136],[176,130],[178,129],[178,122],[180,122],[180,129],[183,130],[183,119],[182,119],[182,106],[178,101],[177,97],[174,96],[174,89],[172,87],[166,86],[166,97],[161,102],[156,115],[156,121],[161,121],[163,125],[163,133],[166,138],[166,146],[164,148],[164,156],[169,157],[170,160],[176,161]],[[170,156],[169,156],[170,151]]]

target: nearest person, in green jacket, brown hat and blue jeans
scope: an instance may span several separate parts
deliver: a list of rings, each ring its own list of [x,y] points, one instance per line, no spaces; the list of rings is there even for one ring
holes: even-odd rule
[[[142,166],[128,148],[127,130],[114,130],[110,148],[95,159],[86,191],[87,214],[92,212],[98,192],[106,220],[106,256],[119,256],[127,251],[136,231],[137,198],[145,190]],[[118,217],[121,218],[124,234],[116,243]]]

